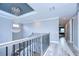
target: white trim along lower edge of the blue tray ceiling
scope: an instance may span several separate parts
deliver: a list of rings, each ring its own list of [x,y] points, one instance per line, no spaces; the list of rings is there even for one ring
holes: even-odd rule
[[[15,18],[20,19],[20,18],[24,18],[24,17],[30,16],[30,15],[34,15],[34,14],[36,14],[36,13],[37,13],[37,12],[32,11],[32,12],[29,12],[29,13],[25,13],[25,14],[23,14],[23,15],[21,15],[21,16],[15,16],[15,15],[13,15],[13,14],[10,14],[10,13],[8,13],[8,12],[5,12],[5,11],[0,10],[0,15],[1,15],[1,16],[5,16],[5,17],[8,18],[8,19],[15,19]]]

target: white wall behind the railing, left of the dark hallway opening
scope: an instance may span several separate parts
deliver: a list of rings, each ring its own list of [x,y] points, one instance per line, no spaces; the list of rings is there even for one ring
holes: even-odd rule
[[[59,18],[25,24],[34,33],[50,33],[50,42],[59,40]]]

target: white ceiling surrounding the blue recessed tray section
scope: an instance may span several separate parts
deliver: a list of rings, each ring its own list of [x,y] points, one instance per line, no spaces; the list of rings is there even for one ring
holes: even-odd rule
[[[28,5],[34,9],[33,12],[25,13],[17,17],[3,11],[0,11],[0,13],[7,18],[10,16],[9,19],[15,19],[13,20],[15,22],[27,23],[34,20],[43,20],[54,17],[72,17],[77,9],[76,3],[28,3]]]

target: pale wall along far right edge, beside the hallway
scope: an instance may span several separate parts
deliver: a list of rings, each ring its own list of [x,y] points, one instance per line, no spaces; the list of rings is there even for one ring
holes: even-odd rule
[[[76,49],[79,50],[79,12],[72,17],[72,40],[73,40],[73,45]]]

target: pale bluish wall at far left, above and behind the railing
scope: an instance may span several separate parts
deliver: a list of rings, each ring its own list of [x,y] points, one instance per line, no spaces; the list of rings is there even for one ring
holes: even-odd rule
[[[0,44],[12,40],[11,28],[11,21],[0,16]],[[5,48],[0,48],[0,55],[5,55]]]

